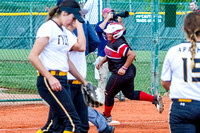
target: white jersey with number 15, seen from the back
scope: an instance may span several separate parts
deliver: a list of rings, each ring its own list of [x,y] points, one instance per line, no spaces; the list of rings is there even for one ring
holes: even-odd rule
[[[195,66],[191,69],[191,43],[181,43],[169,49],[161,79],[171,81],[170,98],[200,101],[200,43],[197,43]]]

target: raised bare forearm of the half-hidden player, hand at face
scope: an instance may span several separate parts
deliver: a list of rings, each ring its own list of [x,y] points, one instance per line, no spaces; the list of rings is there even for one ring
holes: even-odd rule
[[[84,52],[86,50],[86,39],[83,25],[78,20],[75,22],[77,28],[77,42],[72,46],[71,50]]]

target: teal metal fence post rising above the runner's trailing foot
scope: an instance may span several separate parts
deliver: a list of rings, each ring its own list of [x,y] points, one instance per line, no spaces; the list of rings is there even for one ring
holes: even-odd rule
[[[159,34],[158,34],[158,0],[152,0],[153,9],[151,11],[152,16],[152,61],[151,61],[151,92],[152,95],[158,94],[159,86],[159,71],[158,71],[158,43],[159,43]]]

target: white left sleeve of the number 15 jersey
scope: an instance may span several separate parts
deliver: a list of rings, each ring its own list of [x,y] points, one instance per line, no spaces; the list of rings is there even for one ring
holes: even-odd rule
[[[161,74],[161,79],[163,81],[171,81],[171,68],[170,68],[170,50],[167,52],[167,55],[165,57],[163,67],[162,67],[162,74]]]

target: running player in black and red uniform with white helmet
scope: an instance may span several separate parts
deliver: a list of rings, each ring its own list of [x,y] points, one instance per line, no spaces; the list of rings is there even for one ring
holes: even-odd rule
[[[150,101],[162,113],[162,98],[151,96],[143,91],[134,91],[134,77],[136,68],[132,64],[136,55],[123,37],[123,27],[119,23],[110,23],[104,30],[108,37],[105,47],[106,56],[97,64],[97,69],[108,61],[109,71],[112,73],[106,86],[105,106],[103,116],[111,122],[111,110],[114,105],[114,96],[121,90],[130,100]]]

